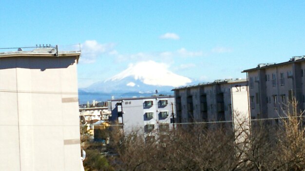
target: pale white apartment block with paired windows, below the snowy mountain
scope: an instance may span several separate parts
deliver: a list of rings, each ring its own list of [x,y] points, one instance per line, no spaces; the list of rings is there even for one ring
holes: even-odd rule
[[[124,98],[111,101],[112,117],[109,120],[124,125],[124,132],[170,129],[174,119],[174,97],[152,96]]]

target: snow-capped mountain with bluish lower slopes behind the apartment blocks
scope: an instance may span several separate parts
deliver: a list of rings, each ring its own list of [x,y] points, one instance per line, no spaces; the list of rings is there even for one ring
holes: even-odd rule
[[[100,96],[95,100],[109,100],[112,96],[114,98],[149,96],[154,94],[155,90],[158,90],[158,94],[172,94],[171,90],[174,87],[189,83],[191,79],[169,71],[168,66],[163,63],[139,62],[135,65],[131,64],[110,79],[80,89],[79,99],[83,101],[86,92]]]

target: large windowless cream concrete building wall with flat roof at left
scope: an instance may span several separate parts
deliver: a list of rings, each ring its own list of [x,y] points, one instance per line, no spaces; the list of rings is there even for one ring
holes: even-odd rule
[[[80,171],[79,56],[0,52],[1,171]]]

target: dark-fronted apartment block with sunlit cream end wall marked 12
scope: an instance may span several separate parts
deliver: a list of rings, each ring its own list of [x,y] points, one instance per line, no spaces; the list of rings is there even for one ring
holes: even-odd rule
[[[246,79],[216,80],[175,88],[173,91],[178,123],[228,121],[237,112],[239,116],[248,118]]]

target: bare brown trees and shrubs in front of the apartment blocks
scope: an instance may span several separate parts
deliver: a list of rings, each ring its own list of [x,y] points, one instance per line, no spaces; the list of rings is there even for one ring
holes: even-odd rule
[[[92,167],[94,158],[84,164],[88,171],[305,170],[302,114],[287,113],[278,124],[255,121],[251,130],[247,123],[238,122],[235,131],[229,124],[209,125],[209,129],[205,124],[192,124],[149,135],[138,131],[126,135],[113,127],[108,132],[108,155],[99,159],[99,168]]]

